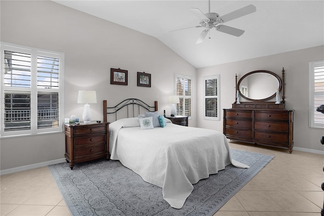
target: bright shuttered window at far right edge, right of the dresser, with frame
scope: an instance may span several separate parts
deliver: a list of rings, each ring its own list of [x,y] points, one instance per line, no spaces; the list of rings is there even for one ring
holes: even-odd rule
[[[309,126],[324,128],[324,114],[316,107],[324,105],[324,60],[309,62]]]

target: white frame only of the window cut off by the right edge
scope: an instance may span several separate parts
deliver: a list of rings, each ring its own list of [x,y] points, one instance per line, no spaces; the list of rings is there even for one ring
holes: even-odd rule
[[[324,123],[315,123],[315,115],[324,115],[316,111],[315,95],[324,97],[324,90],[322,92],[315,92],[315,71],[314,68],[318,66],[324,67],[324,60],[309,62],[309,127],[324,128]],[[324,101],[323,101],[324,104]],[[323,117],[324,118],[324,117]]]

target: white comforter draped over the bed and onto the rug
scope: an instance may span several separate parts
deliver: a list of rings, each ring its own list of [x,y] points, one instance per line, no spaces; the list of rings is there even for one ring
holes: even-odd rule
[[[163,190],[163,198],[181,208],[199,179],[226,165],[248,168],[231,159],[226,137],[217,131],[183,127],[170,121],[164,128],[141,130],[138,118],[109,125],[110,159],[139,174]]]

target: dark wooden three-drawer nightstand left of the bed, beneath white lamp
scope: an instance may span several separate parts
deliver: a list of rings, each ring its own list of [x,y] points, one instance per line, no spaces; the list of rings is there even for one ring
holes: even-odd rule
[[[106,157],[109,160],[109,123],[64,124],[65,159],[74,163]]]

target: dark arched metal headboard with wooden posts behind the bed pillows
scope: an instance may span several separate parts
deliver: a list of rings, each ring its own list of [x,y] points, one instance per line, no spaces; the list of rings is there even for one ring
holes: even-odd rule
[[[131,107],[129,108],[129,106]],[[133,112],[133,117],[135,117],[134,107],[138,107],[138,115],[140,114],[140,107],[148,112],[157,111],[157,100],[154,101],[154,106],[150,106],[140,99],[129,98],[112,107],[107,107],[107,100],[103,100],[103,122],[107,122],[107,114],[115,114],[115,120],[117,120],[117,112],[124,107],[127,109],[127,118],[129,118],[129,109],[131,109],[131,112]]]

